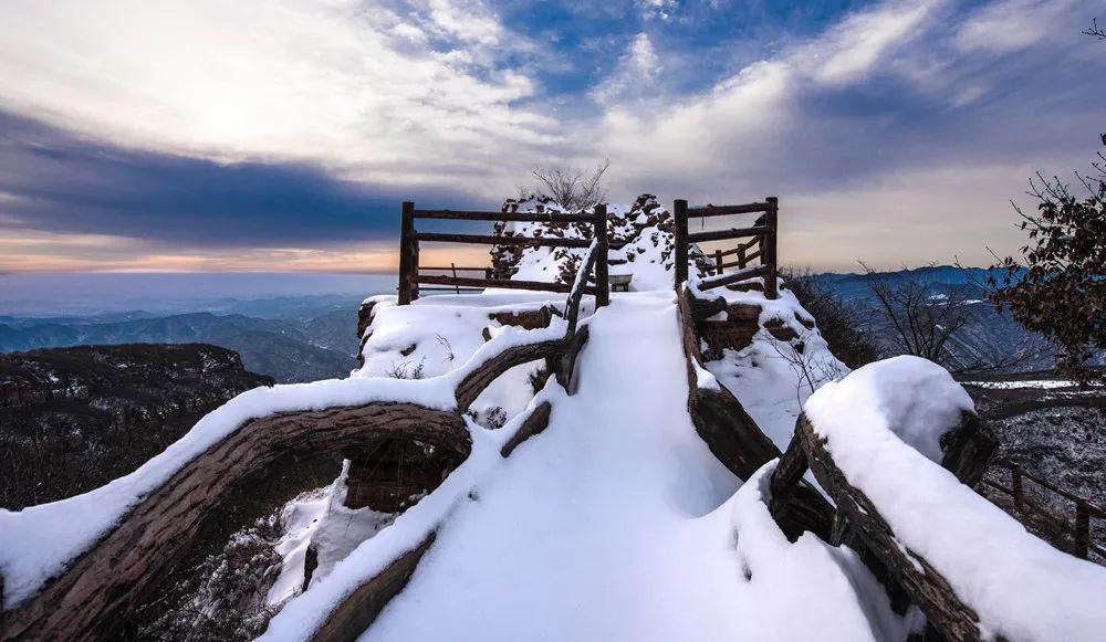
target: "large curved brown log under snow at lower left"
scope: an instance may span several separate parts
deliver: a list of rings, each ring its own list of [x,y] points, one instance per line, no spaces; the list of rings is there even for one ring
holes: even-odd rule
[[[468,456],[456,412],[369,403],[282,412],[247,422],[182,466],[38,594],[7,612],[2,640],[98,640],[112,635],[189,548],[231,488],[285,455],[340,452],[396,435]]]

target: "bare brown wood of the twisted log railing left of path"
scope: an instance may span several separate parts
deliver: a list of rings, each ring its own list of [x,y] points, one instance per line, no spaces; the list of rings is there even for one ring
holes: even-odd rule
[[[156,488],[143,493],[97,541],[76,552],[63,571],[48,579],[30,597],[15,604],[3,603],[4,582],[0,577],[0,640],[112,638],[135,606],[154,594],[159,582],[194,545],[223,497],[261,471],[271,471],[279,464],[292,465],[296,455],[348,452],[380,440],[407,439],[451,453],[459,465],[472,449],[463,413],[503,372],[545,359],[556,380],[571,393],[572,369],[587,337],[587,326],[578,325],[580,299],[587,290],[588,276],[598,272],[599,257],[605,255],[605,243],[599,240],[591,243],[576,281],[566,286],[568,297],[563,313],[566,331],[563,335],[551,333],[550,328],[531,330],[535,333],[532,340],[513,341],[491,355],[478,351],[468,364],[441,377],[380,380],[388,387],[401,387],[404,392],[397,392],[399,396],[393,400],[376,396],[377,400],[358,406],[283,411],[248,420],[180,464]],[[455,402],[451,409],[424,407],[401,399],[425,397],[411,392],[421,387],[439,386],[441,378],[447,378],[452,386]],[[278,390],[269,393],[279,393]],[[426,390],[429,392],[431,388]],[[437,398],[436,394],[429,397]],[[528,436],[541,432],[549,418],[547,401],[532,409],[503,446],[502,456],[508,456]],[[62,502],[52,508],[64,513],[66,507]],[[64,524],[65,520],[59,515],[54,523]],[[356,639],[387,601],[404,588],[432,540],[431,530],[418,547],[403,551],[380,573],[367,578],[334,604],[331,615],[319,624],[311,639],[324,642]],[[3,546],[2,540],[0,546]]]

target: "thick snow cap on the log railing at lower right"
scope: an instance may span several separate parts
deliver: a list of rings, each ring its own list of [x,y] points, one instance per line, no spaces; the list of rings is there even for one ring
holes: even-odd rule
[[[975,609],[984,636],[1102,640],[1106,569],[1030,535],[935,464],[937,440],[971,410],[943,369],[917,357],[865,366],[806,403],[849,484]]]

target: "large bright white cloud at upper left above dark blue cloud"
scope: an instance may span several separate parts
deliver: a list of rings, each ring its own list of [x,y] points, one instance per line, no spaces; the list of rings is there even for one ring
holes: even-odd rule
[[[533,82],[490,60],[502,36],[492,13],[447,0],[425,12],[353,0],[8,3],[0,108],[136,148],[400,183],[479,173],[505,188],[557,124],[520,107]],[[427,30],[451,48],[424,45]]]

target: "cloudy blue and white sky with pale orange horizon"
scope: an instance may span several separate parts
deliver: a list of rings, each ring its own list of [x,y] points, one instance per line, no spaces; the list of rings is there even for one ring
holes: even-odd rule
[[[783,263],[982,265],[1106,131],[1106,0],[0,0],[0,272],[392,271],[403,200],[780,198]],[[465,254],[468,252],[469,254]],[[482,263],[471,249],[428,260]]]

